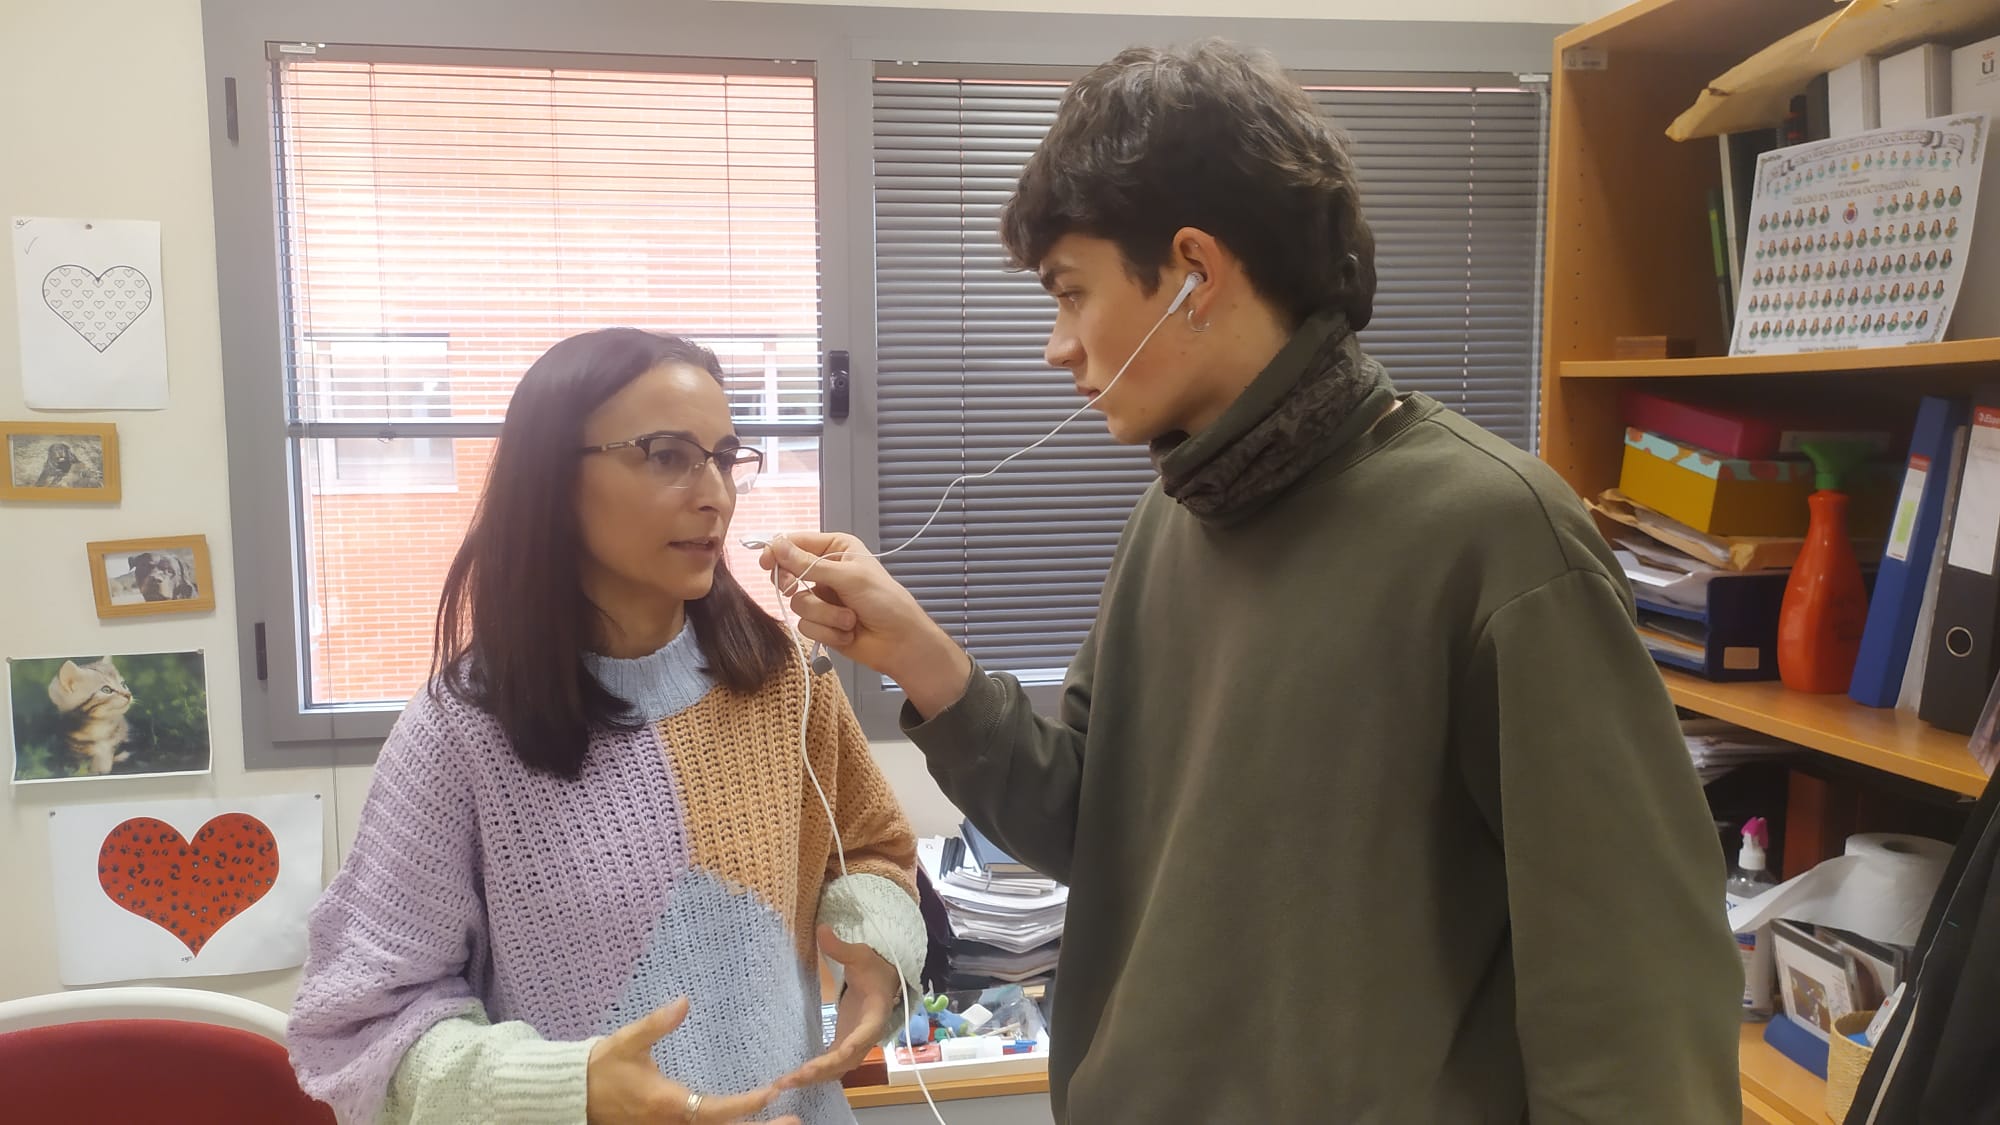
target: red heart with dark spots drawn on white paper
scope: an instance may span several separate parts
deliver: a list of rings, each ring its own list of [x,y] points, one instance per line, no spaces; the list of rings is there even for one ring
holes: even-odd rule
[[[114,903],[200,955],[278,881],[278,837],[248,813],[224,813],[184,839],[166,821],[132,817],[98,849],[98,885]]]

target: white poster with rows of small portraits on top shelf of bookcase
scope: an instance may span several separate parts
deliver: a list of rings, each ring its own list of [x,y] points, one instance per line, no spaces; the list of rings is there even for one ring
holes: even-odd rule
[[[1986,134],[1986,114],[1962,114],[1766,152],[1730,354],[1942,340]]]

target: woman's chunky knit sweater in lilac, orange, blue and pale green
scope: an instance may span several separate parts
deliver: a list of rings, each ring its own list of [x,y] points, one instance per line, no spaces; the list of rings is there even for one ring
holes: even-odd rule
[[[690,1089],[818,1055],[818,921],[918,977],[914,839],[838,681],[816,677],[806,743],[848,879],[800,761],[804,669],[738,695],[702,663],[692,631],[592,659],[646,725],[594,733],[576,781],[524,767],[476,707],[410,701],[312,911],[288,1033],[308,1093],[348,1125],[580,1125],[594,1037],[682,995],[654,1059]],[[852,1121],[836,1085],[780,1113]]]

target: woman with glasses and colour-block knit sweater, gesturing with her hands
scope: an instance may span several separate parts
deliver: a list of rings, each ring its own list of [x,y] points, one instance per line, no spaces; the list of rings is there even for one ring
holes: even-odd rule
[[[840,685],[724,567],[762,460],[688,340],[586,332],[522,376],[310,919],[292,1061],[342,1121],[852,1121],[830,1079],[922,969],[916,849]]]

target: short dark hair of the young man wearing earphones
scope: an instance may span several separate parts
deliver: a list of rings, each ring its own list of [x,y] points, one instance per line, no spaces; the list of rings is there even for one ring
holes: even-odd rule
[[[1374,234],[1346,138],[1260,50],[1220,40],[1132,48],[1062,98],[1000,216],[1016,266],[1064,234],[1118,244],[1150,294],[1174,232],[1214,234],[1294,322],[1374,314]]]

